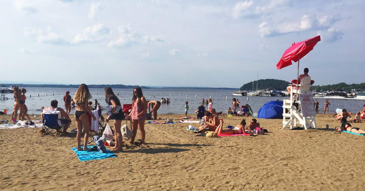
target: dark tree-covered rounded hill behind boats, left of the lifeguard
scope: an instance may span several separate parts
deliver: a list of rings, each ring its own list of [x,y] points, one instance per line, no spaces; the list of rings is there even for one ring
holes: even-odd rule
[[[256,89],[256,83],[257,81],[254,81],[254,89]],[[272,89],[287,89],[289,82],[285,80],[276,80],[276,79],[263,79],[258,80],[257,89],[266,89],[266,88],[272,88]],[[252,90],[252,81],[242,85],[240,88],[241,90],[247,89]]]

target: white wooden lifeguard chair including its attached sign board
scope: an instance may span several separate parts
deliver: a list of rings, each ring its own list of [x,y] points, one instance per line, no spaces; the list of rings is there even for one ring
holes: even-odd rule
[[[297,124],[301,125],[301,127],[304,127],[306,130],[308,128],[317,128],[313,98],[309,90],[312,86],[311,77],[303,77],[300,80],[300,84],[295,84],[295,89],[292,84],[289,85],[291,99],[283,100],[283,129],[293,129],[293,126],[296,127]],[[294,99],[294,92],[296,92],[296,98],[299,96],[301,99]],[[297,105],[295,103],[297,103]]]

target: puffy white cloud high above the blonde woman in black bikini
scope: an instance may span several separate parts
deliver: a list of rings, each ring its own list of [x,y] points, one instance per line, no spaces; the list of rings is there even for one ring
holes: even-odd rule
[[[72,43],[92,43],[103,40],[106,35],[110,34],[109,28],[103,24],[98,23],[92,27],[85,28],[83,33],[77,34],[72,40]]]

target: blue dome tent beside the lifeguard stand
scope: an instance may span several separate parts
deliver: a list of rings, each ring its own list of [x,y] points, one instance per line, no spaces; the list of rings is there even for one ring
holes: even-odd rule
[[[270,101],[258,110],[258,118],[281,119],[283,118],[283,101]]]

